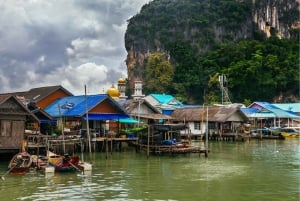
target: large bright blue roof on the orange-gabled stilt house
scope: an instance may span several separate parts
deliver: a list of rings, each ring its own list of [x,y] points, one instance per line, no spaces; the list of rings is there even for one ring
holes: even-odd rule
[[[87,97],[87,98],[86,98]],[[108,97],[107,94],[68,96],[57,99],[45,111],[52,117],[82,116]],[[87,100],[87,101],[86,101]]]

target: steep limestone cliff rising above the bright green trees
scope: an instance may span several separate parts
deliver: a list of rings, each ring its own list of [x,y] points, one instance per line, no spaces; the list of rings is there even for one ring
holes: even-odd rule
[[[128,20],[125,34],[130,88],[144,79],[151,52],[168,54],[174,41],[188,42],[201,56],[217,43],[271,35],[299,37],[299,0],[154,0]],[[173,60],[172,60],[173,59]],[[176,63],[174,58],[171,61]]]

